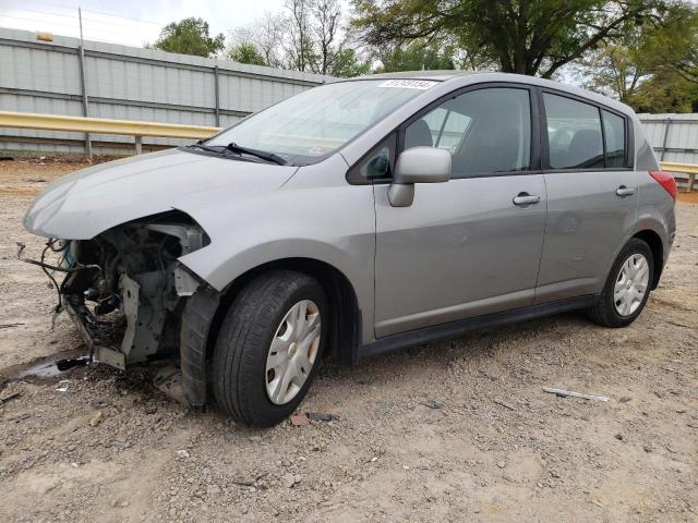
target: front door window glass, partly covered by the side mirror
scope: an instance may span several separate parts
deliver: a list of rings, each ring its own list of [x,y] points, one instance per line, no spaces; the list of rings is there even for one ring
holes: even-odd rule
[[[528,89],[484,88],[445,101],[405,130],[405,148],[418,146],[448,150],[454,177],[530,169]]]

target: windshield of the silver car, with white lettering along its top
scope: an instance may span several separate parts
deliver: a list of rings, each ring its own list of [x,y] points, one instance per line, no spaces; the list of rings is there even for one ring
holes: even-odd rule
[[[309,163],[336,150],[436,82],[370,80],[323,85],[245,118],[205,142],[279,155]]]

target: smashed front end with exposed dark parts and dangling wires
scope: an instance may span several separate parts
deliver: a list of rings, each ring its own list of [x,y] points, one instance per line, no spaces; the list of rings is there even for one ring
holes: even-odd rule
[[[188,215],[172,210],[109,229],[92,240],[51,240],[60,267],[41,262],[57,283],[60,304],[91,353],[120,369],[178,357],[185,300],[202,282],[179,260],[209,239]]]

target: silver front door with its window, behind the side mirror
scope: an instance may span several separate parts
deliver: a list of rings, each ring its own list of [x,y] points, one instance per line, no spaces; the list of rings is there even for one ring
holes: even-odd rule
[[[449,150],[454,174],[409,207],[375,185],[377,338],[532,304],[546,205],[533,94],[471,88],[401,130],[404,148]]]

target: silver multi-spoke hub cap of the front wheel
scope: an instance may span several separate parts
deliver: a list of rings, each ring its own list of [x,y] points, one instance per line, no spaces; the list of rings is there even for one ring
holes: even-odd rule
[[[303,300],[279,324],[266,358],[266,392],[277,405],[291,401],[303,388],[320,349],[317,305]]]

